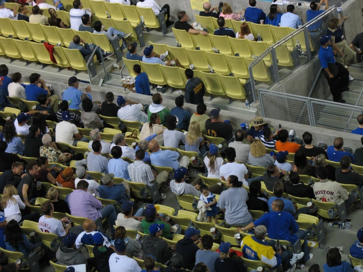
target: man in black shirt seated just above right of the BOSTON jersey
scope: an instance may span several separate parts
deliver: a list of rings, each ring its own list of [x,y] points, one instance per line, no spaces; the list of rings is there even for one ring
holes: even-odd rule
[[[362,188],[363,176],[353,171],[350,167],[351,160],[349,156],[343,156],[340,159],[341,168],[335,170],[335,180],[342,184],[354,184]]]

